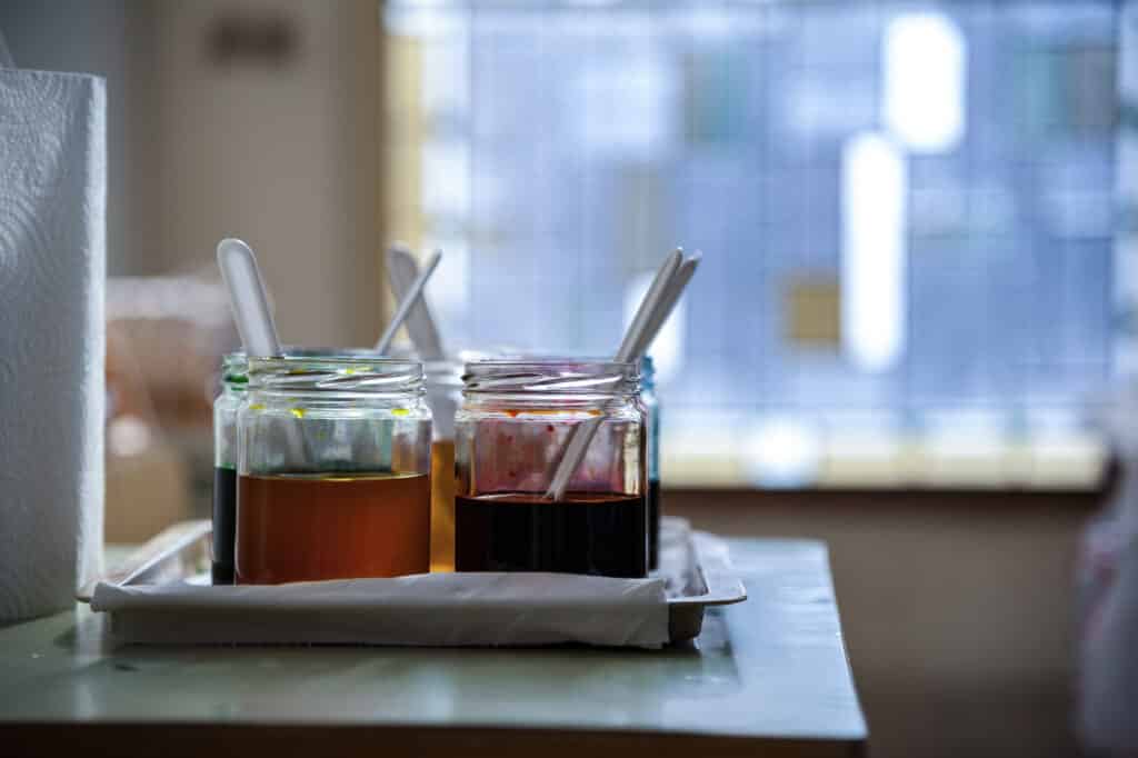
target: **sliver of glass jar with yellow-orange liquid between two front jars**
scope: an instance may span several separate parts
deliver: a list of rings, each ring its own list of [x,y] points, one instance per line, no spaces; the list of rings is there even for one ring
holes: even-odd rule
[[[430,570],[454,570],[454,414],[462,402],[461,361],[423,364],[435,420],[430,446]]]

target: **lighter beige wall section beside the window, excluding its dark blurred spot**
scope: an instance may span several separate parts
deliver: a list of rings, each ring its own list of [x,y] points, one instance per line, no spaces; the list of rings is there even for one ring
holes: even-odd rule
[[[297,53],[280,67],[217,65],[206,31],[236,9],[287,17]],[[257,250],[284,341],[374,340],[377,5],[197,0],[152,13],[163,267],[209,263],[220,238],[241,237]]]

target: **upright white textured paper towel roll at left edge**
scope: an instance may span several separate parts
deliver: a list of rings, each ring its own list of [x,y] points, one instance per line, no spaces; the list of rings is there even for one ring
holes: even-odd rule
[[[0,69],[0,620],[101,569],[106,90]]]

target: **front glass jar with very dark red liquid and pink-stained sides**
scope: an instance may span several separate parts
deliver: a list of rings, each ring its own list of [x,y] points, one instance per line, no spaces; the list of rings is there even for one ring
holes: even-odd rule
[[[455,568],[648,572],[644,407],[636,364],[467,364],[455,419]],[[545,496],[575,428],[603,415],[560,501]]]

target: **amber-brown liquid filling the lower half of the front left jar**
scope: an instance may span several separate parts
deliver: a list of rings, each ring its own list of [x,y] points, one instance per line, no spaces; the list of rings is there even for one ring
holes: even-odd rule
[[[238,584],[429,569],[427,475],[241,476],[237,492]]]

